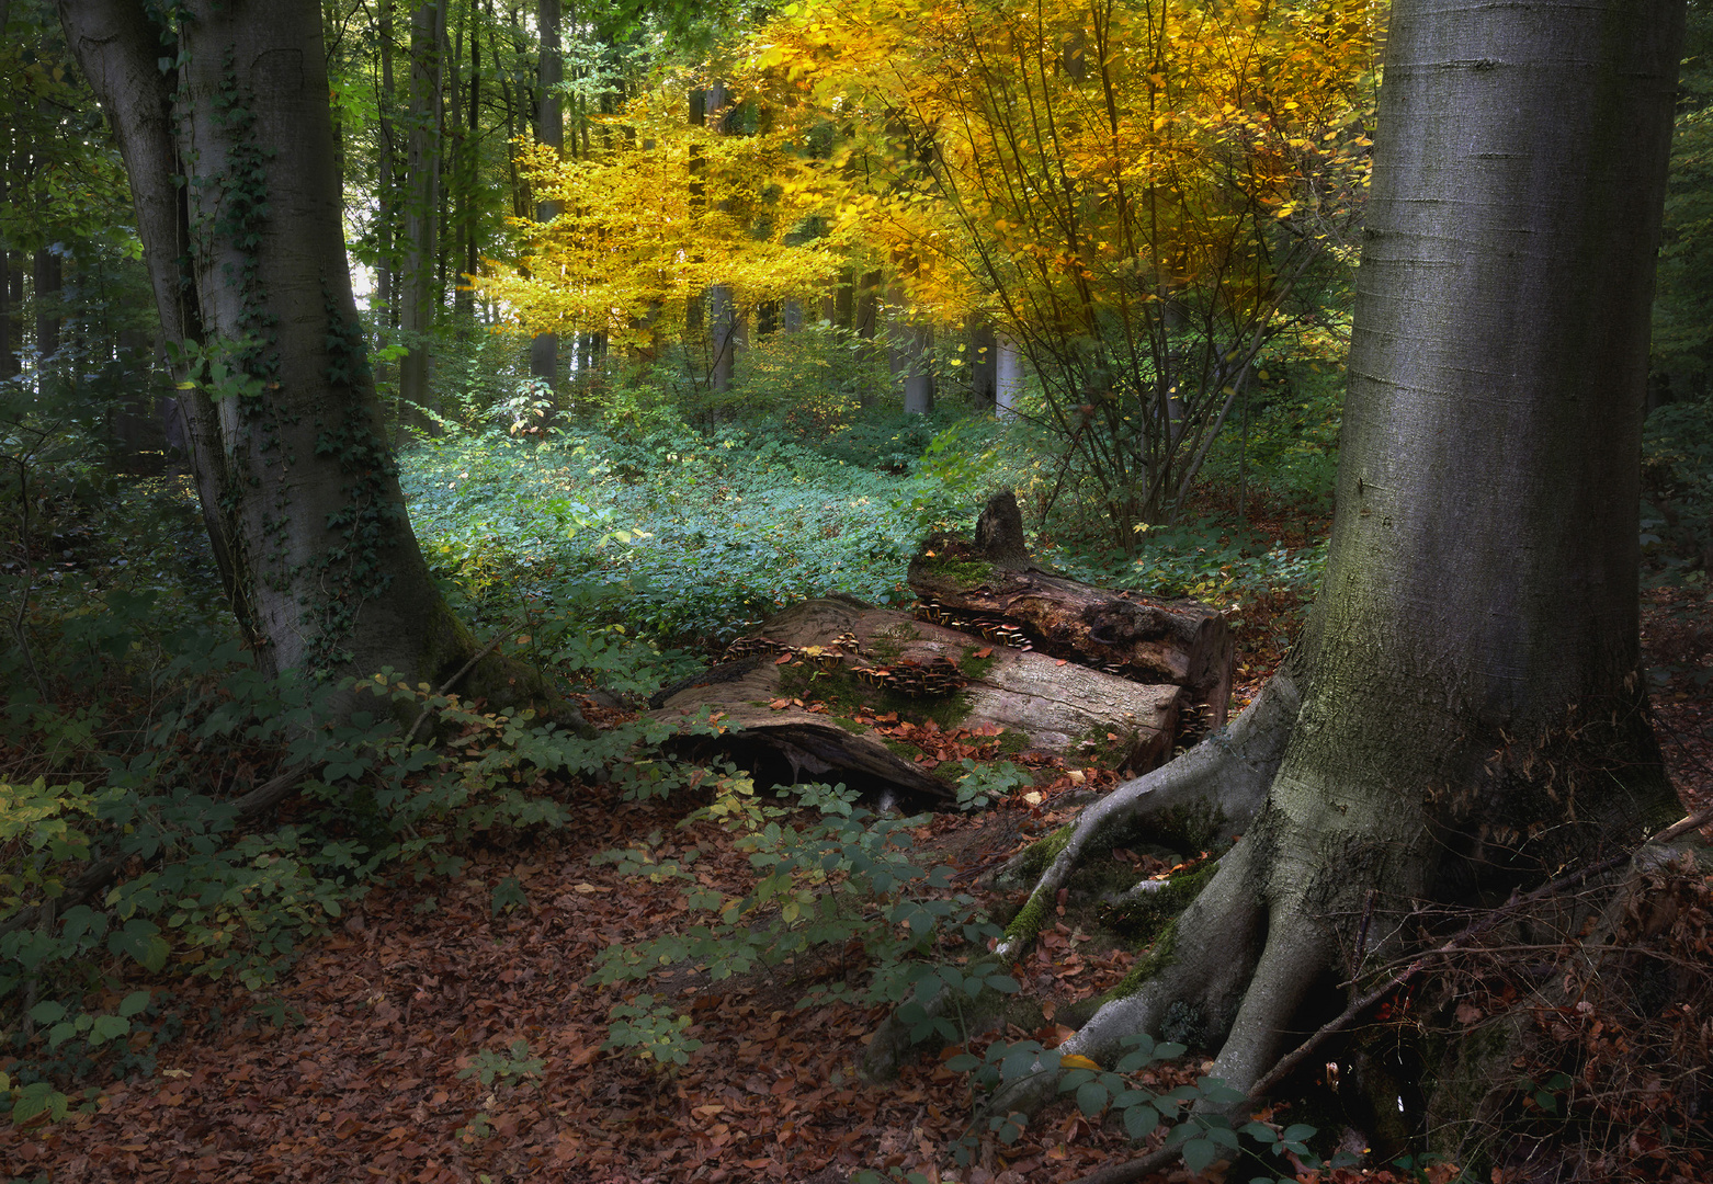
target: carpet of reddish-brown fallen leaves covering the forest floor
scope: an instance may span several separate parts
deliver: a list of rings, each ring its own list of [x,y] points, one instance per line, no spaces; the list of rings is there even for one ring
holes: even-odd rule
[[[1285,610],[1250,607],[1252,615]],[[1276,632],[1261,627],[1252,636]],[[1655,689],[1665,757],[1686,805],[1706,805],[1713,709],[1694,675],[1713,668],[1708,605],[1650,595],[1644,634],[1650,663],[1665,675]],[[1242,655],[1238,703],[1280,658],[1276,649]],[[1043,768],[1038,805],[1012,795],[980,814],[940,816],[920,841],[952,862],[958,886],[971,889],[982,870],[1064,822],[1074,809],[1067,798],[1113,781],[1110,773]],[[1021,1184],[1074,1181],[1136,1153],[1115,1124],[1060,1103],[1016,1145],[987,1141],[975,1165],[949,1167],[970,1121],[963,1074],[928,1061],[904,1066],[894,1083],[865,1085],[855,1066],[882,1011],[795,1006],[810,984],[858,978],[862,968],[841,951],[779,973],[675,987],[675,1002],[694,1016],[690,1035],[706,1045],[677,1073],[601,1052],[608,1011],[622,996],[582,985],[593,960],[613,941],[671,925],[685,905],[677,888],[624,877],[591,865],[591,857],[637,834],[671,834],[692,805],[622,802],[600,786],[579,795],[574,824],[471,850],[457,881],[372,891],[269,992],[267,1001],[283,1004],[278,1023],[259,1020],[260,997],[235,984],[185,980],[175,1008],[207,1021],[161,1049],[156,1074],[106,1088],[93,1112],[0,1131],[0,1165],[12,1177],[51,1184],[833,1184],[863,1167]],[[743,891],[752,869],[730,838],[697,824],[683,838],[692,840],[704,850],[704,876]],[[528,903],[497,915],[493,888],[507,876],[522,884]],[[1132,958],[1060,924],[1014,973],[1062,1008],[1113,985]],[[1050,1043],[1067,1033],[1050,1014],[1042,1030],[1011,1035]],[[528,1047],[516,1047],[519,1040]],[[1203,1069],[1191,1055],[1160,1079],[1187,1081]],[[1233,1172],[1233,1181],[1250,1175]],[[1449,1175],[1381,1167],[1319,1179]]]

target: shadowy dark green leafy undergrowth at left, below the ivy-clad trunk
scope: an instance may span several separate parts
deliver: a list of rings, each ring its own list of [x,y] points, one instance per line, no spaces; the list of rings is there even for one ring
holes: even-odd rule
[[[175,984],[231,982],[252,1023],[286,1023],[279,975],[375,882],[456,877],[492,833],[558,828],[579,781],[646,797],[695,774],[654,759],[675,728],[648,720],[577,737],[389,672],[269,677],[218,617],[151,586],[147,540],[127,541],[135,562],[91,557],[101,581],[31,588],[27,644],[0,649],[0,1105],[17,1122],[152,1073],[197,1021]],[[5,591],[15,612],[24,588]],[[653,687],[660,655],[620,643],[543,631],[502,651],[570,655],[560,673]],[[401,711],[423,716],[415,739]],[[247,810],[278,776],[296,795]],[[123,877],[74,894],[110,865]]]

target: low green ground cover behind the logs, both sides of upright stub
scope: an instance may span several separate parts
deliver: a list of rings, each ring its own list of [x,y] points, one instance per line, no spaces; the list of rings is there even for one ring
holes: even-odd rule
[[[545,442],[490,430],[416,447],[403,468],[430,564],[478,619],[519,598],[589,603],[594,584],[606,591],[584,624],[706,644],[805,596],[908,603],[922,536],[968,529],[992,490],[1038,488],[1045,464],[1026,428],[894,416],[817,445],[778,425],[630,439],[565,425]],[[1228,603],[1307,591],[1324,543],[1211,516],[1148,531],[1134,555],[1076,535],[1040,555],[1091,583]]]

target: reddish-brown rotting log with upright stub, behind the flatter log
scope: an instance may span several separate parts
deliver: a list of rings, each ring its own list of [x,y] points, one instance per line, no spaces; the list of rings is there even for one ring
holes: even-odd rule
[[[975,541],[930,536],[910,564],[910,586],[942,624],[985,636],[1009,627],[1043,653],[1180,685],[1206,704],[1211,727],[1225,723],[1232,632],[1218,610],[1093,588],[1035,565],[1009,490],[988,500]]]

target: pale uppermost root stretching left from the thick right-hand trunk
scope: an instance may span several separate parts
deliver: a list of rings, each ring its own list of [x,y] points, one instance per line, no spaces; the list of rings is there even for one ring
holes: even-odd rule
[[[1225,836],[1240,831],[1266,800],[1297,723],[1298,706],[1300,697],[1290,675],[1274,675],[1228,728],[1215,732],[1177,761],[1119,786],[1083,810],[1067,831],[1042,840],[1048,845],[1047,850],[1057,850],[995,953],[1016,958],[1035,941],[1059,889],[1100,843],[1110,846],[1148,822],[1158,824],[1173,816],[1206,821]],[[1016,877],[1036,860],[1040,845],[1000,869],[999,877]]]

